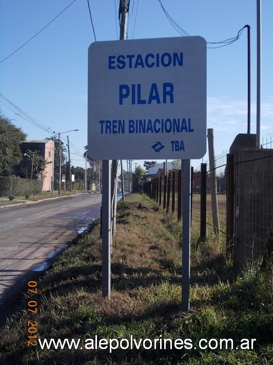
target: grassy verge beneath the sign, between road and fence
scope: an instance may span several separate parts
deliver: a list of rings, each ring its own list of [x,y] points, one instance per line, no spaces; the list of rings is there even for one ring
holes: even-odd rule
[[[118,204],[111,298],[101,294],[99,225],[38,282],[38,338],[191,339],[192,349],[42,350],[27,346],[27,302],[2,329],[3,364],[272,364],[272,268],[237,272],[192,227],[189,312],[181,311],[181,224],[145,195]],[[256,338],[253,350],[200,350],[200,339]],[[197,347],[197,349],[194,349]]]

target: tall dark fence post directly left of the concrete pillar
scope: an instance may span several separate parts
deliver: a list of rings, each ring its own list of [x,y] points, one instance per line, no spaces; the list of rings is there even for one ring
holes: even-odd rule
[[[235,154],[227,154],[226,166],[226,254],[232,255],[235,234]]]

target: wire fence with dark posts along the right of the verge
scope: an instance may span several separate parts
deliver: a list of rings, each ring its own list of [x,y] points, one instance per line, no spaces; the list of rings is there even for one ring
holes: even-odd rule
[[[212,238],[234,263],[245,268],[272,261],[273,150],[244,148],[223,152],[191,168],[191,222],[200,227],[200,241]],[[144,193],[168,213],[182,217],[181,171],[170,171],[144,184]]]

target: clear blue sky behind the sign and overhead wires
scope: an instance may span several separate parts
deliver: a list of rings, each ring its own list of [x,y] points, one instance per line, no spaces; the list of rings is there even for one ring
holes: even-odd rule
[[[214,129],[215,153],[220,155],[229,149],[237,134],[247,132],[247,30],[230,45],[209,47],[220,46],[211,42],[234,38],[241,28],[250,26],[250,132],[256,133],[257,2],[161,0],[161,3],[187,34],[200,35],[210,42],[207,43],[207,128]],[[261,0],[261,3],[261,142],[266,143],[273,136],[273,1]],[[87,145],[88,47],[95,38],[118,40],[120,33],[119,0],[89,0],[89,5],[94,31],[87,0],[0,0],[0,112],[21,127],[28,139],[44,139],[54,131],[65,132],[61,136],[66,142],[69,134],[72,165],[82,167]],[[167,19],[159,0],[130,1],[128,40],[181,35]],[[31,117],[32,123],[22,111]],[[33,125],[33,119],[43,129]],[[66,133],[75,129],[79,131]],[[207,160],[208,153],[203,157],[204,162]],[[197,168],[200,162],[192,160],[191,165]],[[143,160],[134,163],[143,166]]]

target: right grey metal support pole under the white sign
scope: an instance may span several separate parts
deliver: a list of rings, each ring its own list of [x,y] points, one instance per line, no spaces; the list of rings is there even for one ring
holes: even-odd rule
[[[190,160],[182,160],[182,303],[189,310],[190,288]]]

